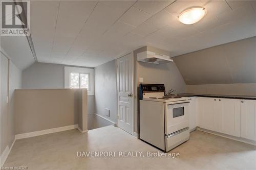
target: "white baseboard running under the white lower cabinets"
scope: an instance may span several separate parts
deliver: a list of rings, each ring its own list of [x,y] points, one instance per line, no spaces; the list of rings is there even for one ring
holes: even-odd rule
[[[225,137],[225,138],[228,138],[228,139],[240,141],[240,142],[243,142],[243,143],[248,143],[248,144],[251,144],[251,145],[256,145],[256,141],[253,141],[253,140],[249,140],[249,139],[245,139],[245,138],[241,138],[241,137],[236,137],[236,136],[231,136],[231,135],[226,135],[226,134],[223,134],[223,133],[219,133],[219,132],[203,129],[203,128],[200,128],[200,127],[197,127],[197,130],[202,131],[202,132],[206,132],[206,133],[210,133],[210,134],[213,134],[213,135]]]

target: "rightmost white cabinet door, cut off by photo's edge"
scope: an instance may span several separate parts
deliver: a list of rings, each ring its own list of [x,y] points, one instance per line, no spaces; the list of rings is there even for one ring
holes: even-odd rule
[[[256,101],[240,100],[241,137],[256,140]]]

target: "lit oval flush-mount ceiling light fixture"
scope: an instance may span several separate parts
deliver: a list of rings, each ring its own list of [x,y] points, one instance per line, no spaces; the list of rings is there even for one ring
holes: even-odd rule
[[[202,7],[192,7],[183,11],[178,19],[180,22],[190,25],[200,21],[206,14],[205,8]]]

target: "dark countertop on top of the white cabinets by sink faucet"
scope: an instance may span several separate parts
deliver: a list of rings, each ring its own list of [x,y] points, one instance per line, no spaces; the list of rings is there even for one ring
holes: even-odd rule
[[[183,97],[205,97],[205,98],[227,98],[227,99],[244,99],[244,100],[256,100],[254,95],[225,95],[225,94],[195,94],[195,93],[180,93],[173,94],[172,96],[183,96]]]

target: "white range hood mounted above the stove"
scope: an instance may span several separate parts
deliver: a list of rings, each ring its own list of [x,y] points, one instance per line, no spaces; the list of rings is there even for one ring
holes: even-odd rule
[[[144,51],[137,54],[137,61],[142,61],[146,63],[152,63],[152,64],[164,64],[171,61],[174,61],[173,59],[170,59],[169,56],[158,54],[155,52],[150,51]]]

